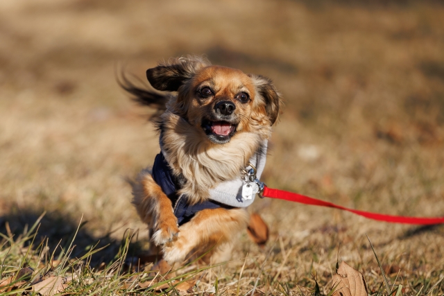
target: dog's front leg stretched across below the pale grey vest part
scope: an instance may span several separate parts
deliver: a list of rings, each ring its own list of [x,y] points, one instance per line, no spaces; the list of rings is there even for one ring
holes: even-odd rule
[[[162,247],[164,259],[170,264],[181,263],[192,251],[206,245],[213,251],[223,243],[231,243],[248,224],[245,209],[204,209],[180,226],[177,241]],[[208,250],[202,250],[204,253]]]

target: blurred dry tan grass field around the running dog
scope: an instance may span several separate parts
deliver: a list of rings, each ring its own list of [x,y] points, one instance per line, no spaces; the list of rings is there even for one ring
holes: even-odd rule
[[[443,216],[443,36],[444,7],[434,2],[1,1],[0,224],[15,238],[3,241],[0,259],[14,246],[8,271],[45,266],[37,255],[25,260],[18,246],[30,240],[17,238],[43,211],[32,254],[45,236],[49,250],[60,239],[67,250],[82,214],[87,223],[71,258],[100,238],[110,246],[92,265],[118,262],[128,228],[140,229],[130,256],[146,248],[123,177],[152,164],[159,148],[115,69],[127,64],[144,79],[156,60],[187,53],[262,73],[284,94],[268,186],[368,211]],[[389,281],[405,295],[422,286],[420,295],[444,293],[442,284],[431,290],[444,275],[443,227],[376,223],[272,200],[252,210],[271,227],[266,249],[244,235],[234,261],[198,275],[200,291],[214,290],[217,278],[219,293],[237,295],[239,285],[244,295],[259,277],[268,295],[314,293],[316,277],[330,285],[339,250],[371,291],[386,294],[368,234],[382,264],[393,265]],[[71,291],[124,293],[131,272],[107,281],[114,285],[108,290]]]

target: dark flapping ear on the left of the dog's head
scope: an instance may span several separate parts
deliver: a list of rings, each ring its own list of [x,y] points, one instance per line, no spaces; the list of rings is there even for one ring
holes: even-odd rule
[[[192,78],[198,69],[210,65],[204,58],[174,58],[146,70],[146,78],[160,91],[177,92],[183,83]]]

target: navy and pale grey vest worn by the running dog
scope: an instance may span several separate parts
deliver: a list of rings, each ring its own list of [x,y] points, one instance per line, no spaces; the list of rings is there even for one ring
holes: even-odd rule
[[[257,178],[264,171],[266,159],[266,142],[264,142],[261,153],[256,153],[251,157],[250,164],[256,167]],[[221,182],[214,189],[210,189],[210,199],[197,204],[189,204],[186,195],[178,195],[180,184],[173,175],[173,170],[169,166],[163,151],[156,155],[152,173],[154,181],[160,186],[173,204],[173,212],[178,218],[178,224],[187,223],[198,211],[203,209],[234,209],[239,207],[248,207],[253,203],[255,195],[250,199],[242,198],[241,190],[245,181],[239,176],[237,179]]]

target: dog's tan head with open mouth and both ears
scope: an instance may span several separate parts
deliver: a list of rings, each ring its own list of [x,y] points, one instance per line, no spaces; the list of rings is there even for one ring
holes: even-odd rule
[[[146,76],[155,89],[178,92],[167,107],[212,143],[227,143],[235,134],[257,132],[278,119],[280,94],[263,76],[201,58],[173,59],[148,69]]]

